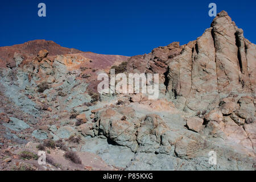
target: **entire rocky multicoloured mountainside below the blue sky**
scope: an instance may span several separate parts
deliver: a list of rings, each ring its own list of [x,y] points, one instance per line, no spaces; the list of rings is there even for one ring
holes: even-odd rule
[[[158,100],[97,93],[97,75],[113,66],[159,73]],[[47,168],[53,170],[254,170],[255,67],[255,44],[225,11],[197,40],[133,57],[46,40],[0,47],[0,157],[19,144],[0,169],[52,139],[62,140],[47,148],[62,166]],[[67,149],[80,166],[64,158]],[[208,163],[210,151],[216,165]]]

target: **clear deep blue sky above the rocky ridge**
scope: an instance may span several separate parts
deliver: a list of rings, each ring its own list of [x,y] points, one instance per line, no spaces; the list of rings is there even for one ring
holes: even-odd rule
[[[46,3],[46,18],[38,16],[40,2]],[[46,39],[81,51],[140,55],[201,36],[213,20],[210,2],[256,43],[255,0],[7,0],[0,2],[0,46]]]

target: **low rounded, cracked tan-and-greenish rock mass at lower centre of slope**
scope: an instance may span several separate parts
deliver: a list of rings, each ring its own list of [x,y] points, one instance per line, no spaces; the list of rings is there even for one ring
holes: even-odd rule
[[[123,110],[130,110],[124,113]],[[131,148],[133,152],[155,152],[159,149],[161,137],[169,130],[159,115],[148,114],[138,118],[130,107],[116,107],[98,111],[98,135],[105,135],[119,145]]]

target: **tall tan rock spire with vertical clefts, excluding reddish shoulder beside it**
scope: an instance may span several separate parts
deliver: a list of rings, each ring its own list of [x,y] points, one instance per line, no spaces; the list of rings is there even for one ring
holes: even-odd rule
[[[195,42],[187,44],[171,61],[169,90],[178,100],[186,98],[184,109],[212,110],[230,94],[254,97],[248,63],[255,67],[255,57],[246,55],[255,52],[247,52],[245,42],[242,30],[222,11],[213,20],[211,28]],[[236,109],[233,107],[224,112],[229,114]]]

